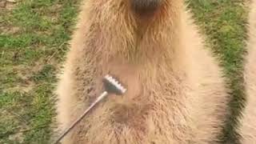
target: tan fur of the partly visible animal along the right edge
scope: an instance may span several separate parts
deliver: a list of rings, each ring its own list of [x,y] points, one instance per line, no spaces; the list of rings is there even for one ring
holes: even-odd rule
[[[256,0],[250,2],[248,35],[248,55],[244,74],[246,103],[242,112],[239,134],[242,136],[242,144],[256,144]]]

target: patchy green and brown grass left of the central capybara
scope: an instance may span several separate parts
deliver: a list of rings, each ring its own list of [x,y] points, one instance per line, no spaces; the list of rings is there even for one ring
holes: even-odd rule
[[[66,51],[77,2],[0,4],[0,143],[49,140],[55,72]]]

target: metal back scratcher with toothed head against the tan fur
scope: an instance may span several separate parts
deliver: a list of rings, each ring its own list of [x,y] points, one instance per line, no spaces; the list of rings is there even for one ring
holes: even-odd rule
[[[126,88],[122,86],[120,82],[118,82],[117,79],[113,78],[109,74],[107,74],[103,78],[103,84],[105,87],[105,91],[98,97],[96,100],[84,111],[84,113],[75,121],[72,123],[72,125],[67,128],[59,137],[58,139],[54,142],[54,144],[57,144],[78,124],[78,122],[81,122],[82,118],[88,114],[88,112],[98,103],[100,102],[103,98],[107,96],[107,94],[117,94],[117,95],[122,95],[126,93]]]

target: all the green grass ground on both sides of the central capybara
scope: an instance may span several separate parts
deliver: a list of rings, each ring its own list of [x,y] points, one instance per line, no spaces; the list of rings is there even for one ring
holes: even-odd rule
[[[230,78],[232,107],[223,143],[234,143],[242,107],[247,13],[242,0],[189,0]],[[22,0],[0,8],[0,143],[46,143],[55,74],[73,30],[78,0]]]

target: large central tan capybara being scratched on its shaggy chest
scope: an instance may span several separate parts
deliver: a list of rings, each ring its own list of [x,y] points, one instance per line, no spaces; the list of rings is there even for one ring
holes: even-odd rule
[[[226,114],[222,70],[182,0],[85,0],[58,84],[63,130],[114,75],[109,95],[63,143],[215,143]]]

